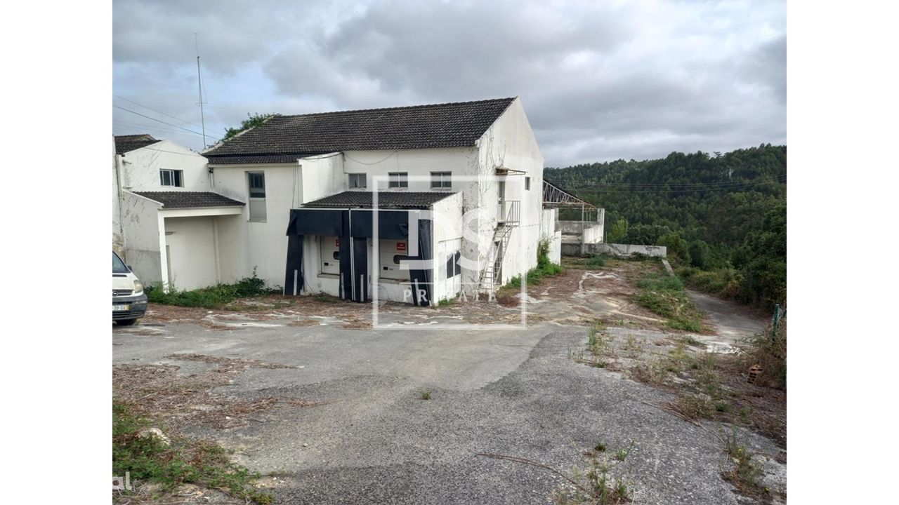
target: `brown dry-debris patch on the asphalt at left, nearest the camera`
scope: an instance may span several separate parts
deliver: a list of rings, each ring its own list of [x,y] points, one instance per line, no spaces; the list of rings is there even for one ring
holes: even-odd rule
[[[249,368],[293,368],[254,359],[231,359],[199,354],[173,354],[169,359],[215,365],[206,371],[183,375],[174,365],[116,365],[112,367],[112,393],[122,402],[136,405],[148,417],[165,420],[170,430],[190,424],[215,429],[245,426],[255,414],[279,405],[299,407],[320,403],[268,396],[243,400],[213,390],[233,382]]]

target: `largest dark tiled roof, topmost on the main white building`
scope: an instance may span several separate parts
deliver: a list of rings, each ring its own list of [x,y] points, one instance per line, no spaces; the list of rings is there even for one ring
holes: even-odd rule
[[[203,155],[474,146],[514,98],[274,116]]]

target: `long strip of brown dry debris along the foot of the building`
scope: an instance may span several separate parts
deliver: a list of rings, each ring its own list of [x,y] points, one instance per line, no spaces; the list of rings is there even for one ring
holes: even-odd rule
[[[565,258],[563,264],[572,261]],[[639,329],[660,329],[664,320],[634,301],[636,281],[647,273],[659,273],[658,261],[610,259],[594,269],[574,268],[541,279],[527,287],[528,323],[563,323],[589,326],[597,320]],[[385,302],[381,315],[407,323],[441,322],[518,324],[521,322],[521,289],[502,288],[494,300],[481,295],[456,298],[436,307],[417,307]],[[254,322],[288,326],[334,325],[346,330],[368,330],[371,305],[325,295],[242,298],[226,309],[209,310],[151,304],[145,323],[195,323],[210,330],[234,330]]]

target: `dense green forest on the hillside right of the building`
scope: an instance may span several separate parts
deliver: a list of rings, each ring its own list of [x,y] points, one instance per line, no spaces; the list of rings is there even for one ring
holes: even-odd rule
[[[787,146],[547,168],[544,177],[606,209],[606,242],[665,245],[694,288],[785,304]],[[571,212],[561,218],[580,218]]]

